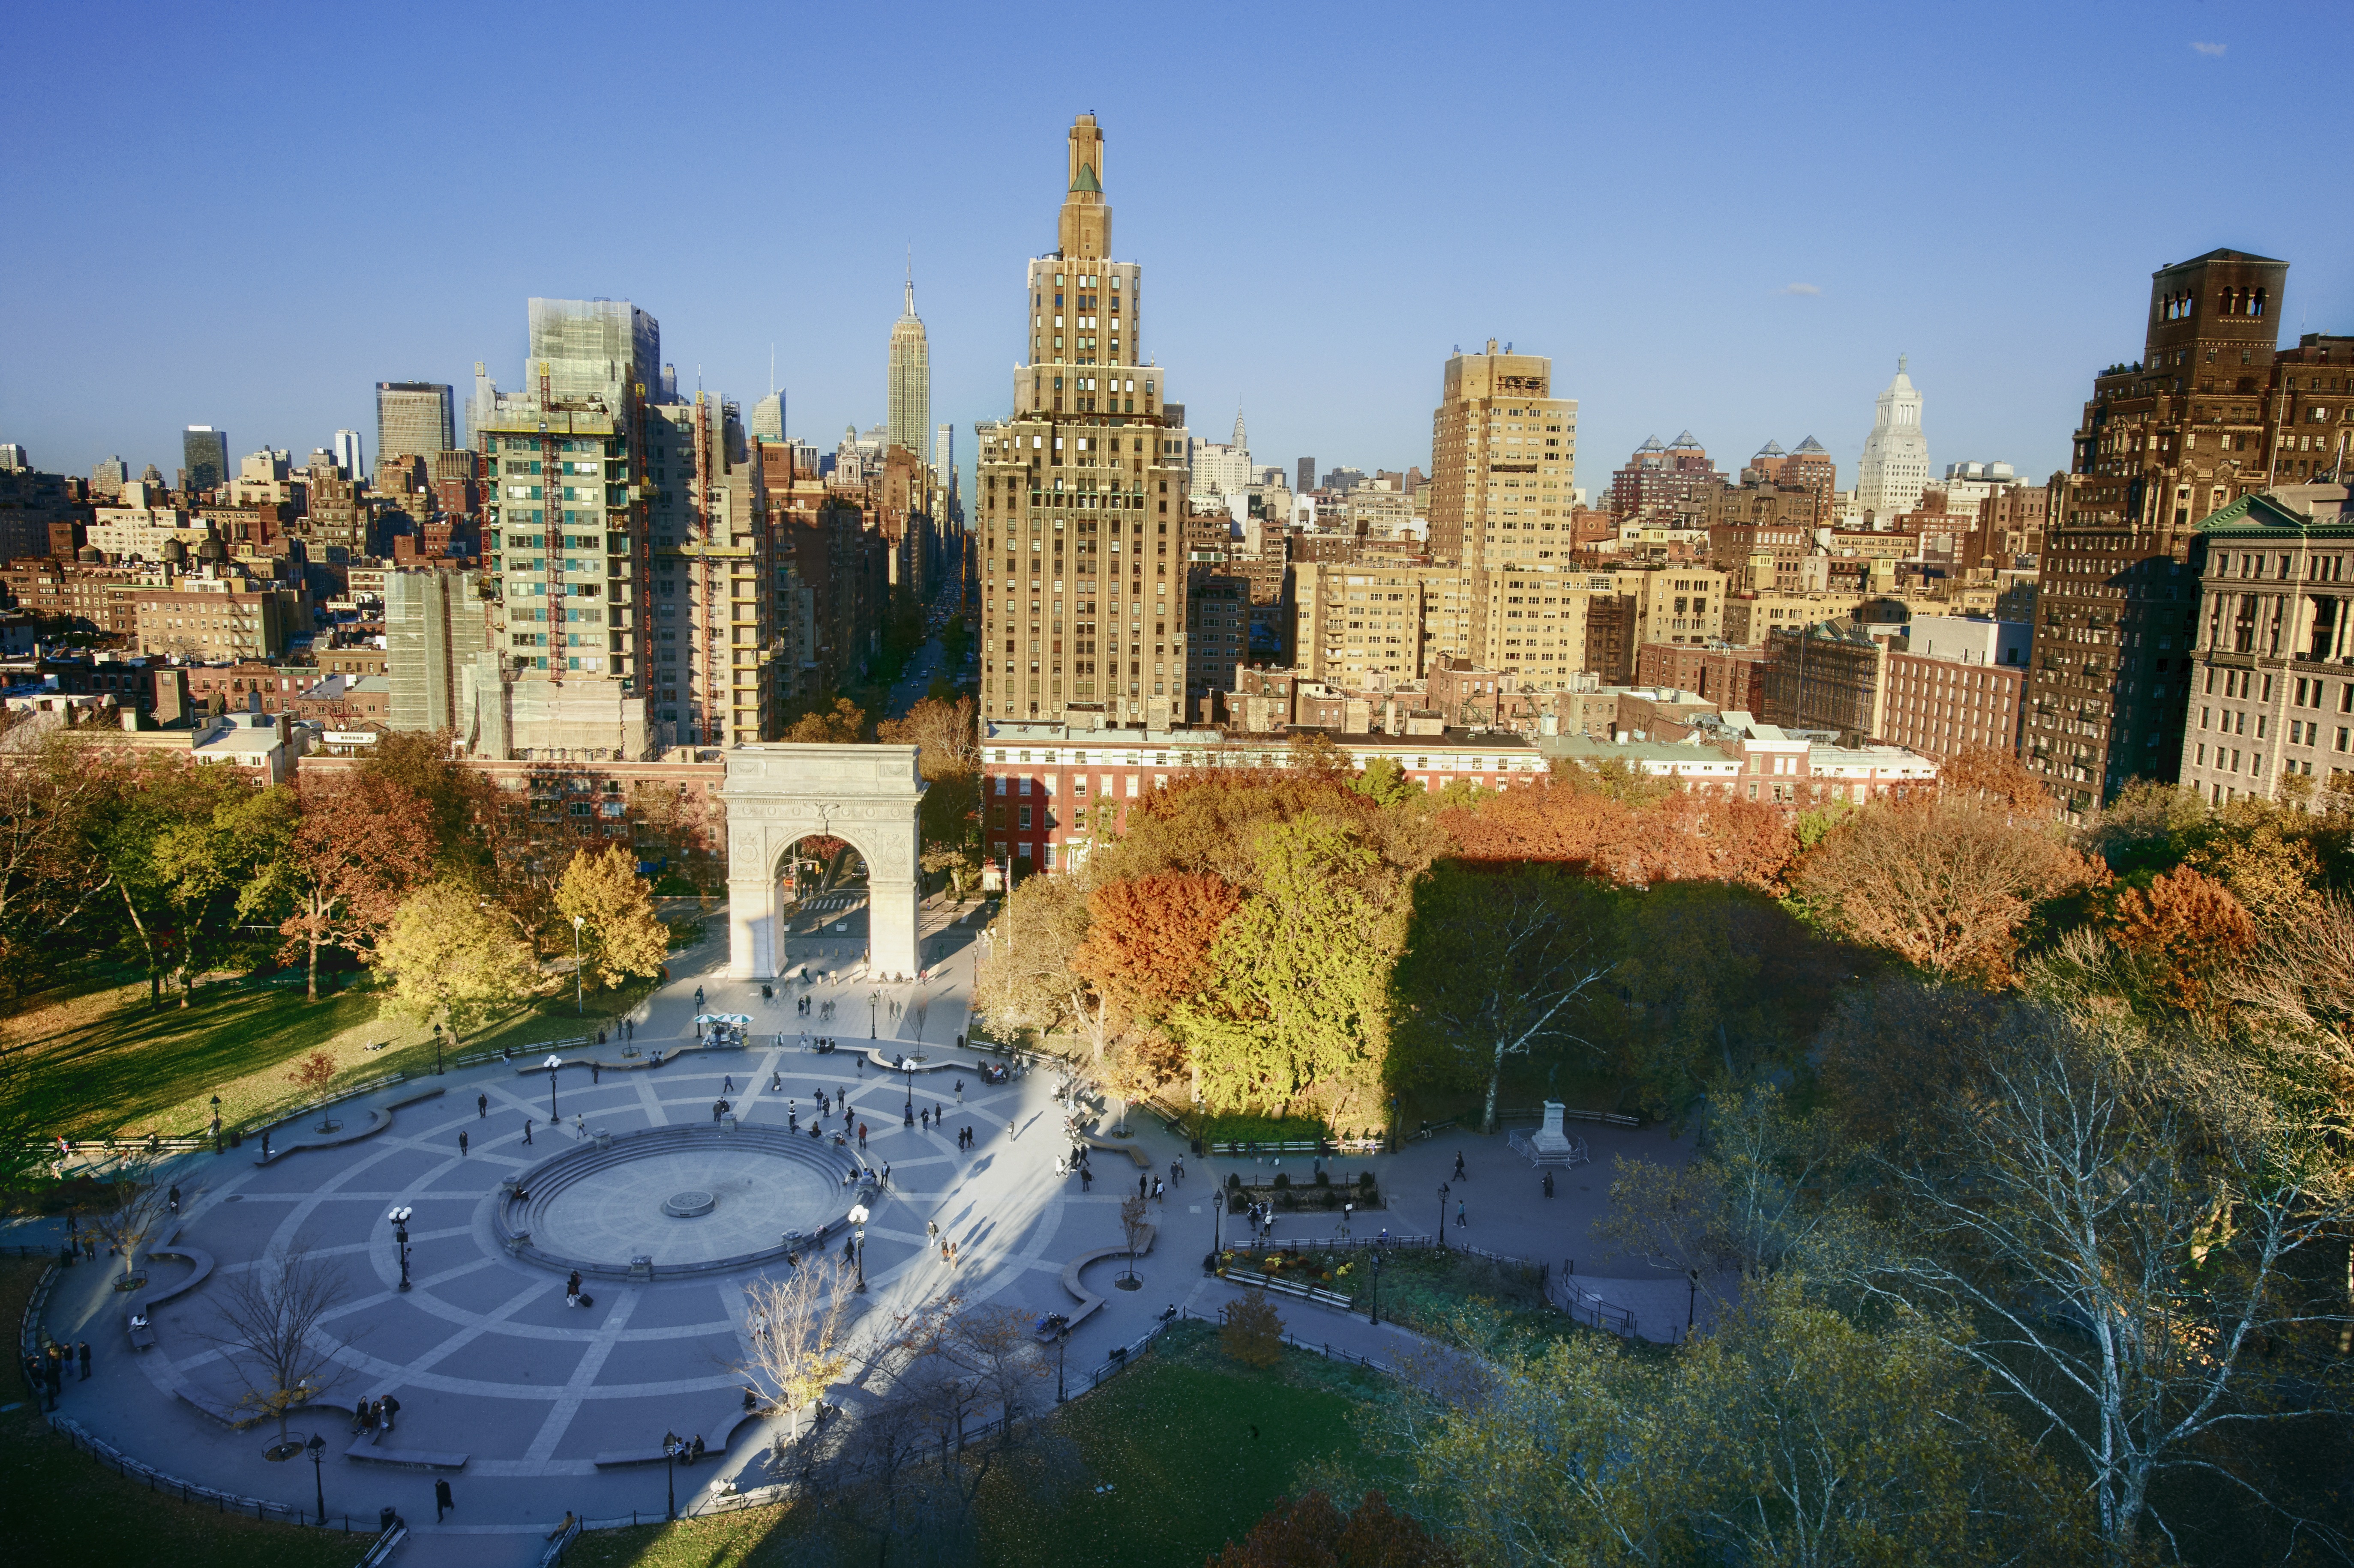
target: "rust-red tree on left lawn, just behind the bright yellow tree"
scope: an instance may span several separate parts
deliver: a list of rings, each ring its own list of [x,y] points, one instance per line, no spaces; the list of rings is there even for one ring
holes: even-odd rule
[[[367,956],[431,864],[428,808],[405,784],[365,770],[301,775],[294,831],[261,885],[292,906],[278,935],[287,956],[304,956],[311,1001],[320,951]]]

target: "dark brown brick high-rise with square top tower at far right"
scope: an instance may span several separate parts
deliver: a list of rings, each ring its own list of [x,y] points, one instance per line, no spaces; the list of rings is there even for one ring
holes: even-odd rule
[[[2128,779],[2177,782],[2203,565],[2194,525],[2267,490],[2286,450],[2312,438],[2312,410],[2335,412],[2298,391],[2314,381],[2307,348],[2274,346],[2286,285],[2286,261],[2239,250],[2161,266],[2142,358],[2093,377],[2043,532],[2022,737],[2072,817]]]

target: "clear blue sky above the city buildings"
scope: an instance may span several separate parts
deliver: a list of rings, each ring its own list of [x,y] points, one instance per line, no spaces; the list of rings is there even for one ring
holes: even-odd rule
[[[0,440],[87,473],[367,436],[516,384],[530,294],[650,308],[680,379],[883,419],[906,247],[935,421],[1010,400],[1064,127],[1196,431],[1429,466],[1455,344],[1554,356],[1580,483],[1648,433],[1853,483],[1895,356],[1933,464],[2046,473],[2149,273],[2293,261],[2354,332],[2321,61],[2354,7],[49,5],[9,21]],[[970,469],[967,469],[970,473]]]

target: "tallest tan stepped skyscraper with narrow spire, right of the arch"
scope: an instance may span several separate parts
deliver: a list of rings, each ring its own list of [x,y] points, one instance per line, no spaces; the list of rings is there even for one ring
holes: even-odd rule
[[[1071,125],[1057,247],[1029,264],[1015,412],[977,426],[982,720],[1172,723],[1184,706],[1182,414],[1111,261],[1104,134]]]

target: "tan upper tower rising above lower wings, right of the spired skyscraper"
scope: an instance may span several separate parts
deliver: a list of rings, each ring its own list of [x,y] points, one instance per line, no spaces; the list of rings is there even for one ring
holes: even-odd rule
[[[1431,560],[1547,570],[1570,553],[1577,398],[1537,353],[1457,353],[1431,414]]]

